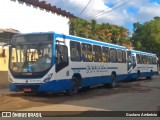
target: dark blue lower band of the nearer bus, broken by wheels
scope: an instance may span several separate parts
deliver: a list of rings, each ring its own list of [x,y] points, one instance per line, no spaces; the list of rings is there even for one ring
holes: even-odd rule
[[[124,80],[127,76],[117,75],[117,81]],[[82,78],[81,86],[94,86],[98,84],[111,83],[111,76],[96,76]],[[20,89],[21,88],[21,89]],[[53,80],[46,83],[31,84],[31,83],[10,83],[10,91],[23,91],[23,88],[33,88],[33,92],[58,92],[71,89],[71,80]],[[36,89],[34,89],[36,88]]]

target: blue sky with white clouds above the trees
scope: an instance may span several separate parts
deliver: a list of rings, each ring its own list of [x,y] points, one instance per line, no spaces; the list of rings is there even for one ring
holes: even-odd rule
[[[40,0],[44,1],[44,0]],[[133,23],[160,16],[160,0],[45,0],[85,20],[123,26],[133,32]],[[87,8],[87,3],[90,1]],[[84,12],[80,14],[82,11]]]

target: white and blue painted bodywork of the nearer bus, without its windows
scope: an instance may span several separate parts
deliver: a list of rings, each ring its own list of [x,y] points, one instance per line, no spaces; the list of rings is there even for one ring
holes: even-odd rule
[[[37,33],[38,34],[38,33]],[[40,33],[41,34],[41,33]],[[16,78],[9,71],[9,81],[11,91],[24,91],[26,88],[31,88],[35,92],[57,92],[71,89],[71,80],[75,75],[81,76],[81,87],[94,86],[98,84],[111,83],[111,75],[115,73],[116,80],[121,81],[127,78],[127,62],[111,63],[111,62],[79,62],[71,61],[70,58],[70,41],[98,45],[126,51],[123,46],[108,44],[104,42],[94,41],[76,36],[63,35],[53,33],[53,49],[52,49],[52,68],[40,78]],[[29,35],[29,34],[28,34]],[[34,33],[33,33],[34,35]],[[21,35],[23,36],[23,35]],[[56,72],[56,42],[60,41],[68,48],[68,65]],[[64,43],[63,43],[64,42]],[[125,58],[126,59],[126,58]],[[51,76],[47,82],[44,82],[48,76]]]

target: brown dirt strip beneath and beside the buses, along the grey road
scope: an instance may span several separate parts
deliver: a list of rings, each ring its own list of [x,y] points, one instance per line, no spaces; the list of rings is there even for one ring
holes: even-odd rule
[[[157,78],[156,78],[157,79]],[[159,79],[159,78],[158,78]],[[123,94],[123,93],[139,93],[149,91],[151,88],[143,86],[143,83],[150,83],[149,80],[124,82],[120,83],[117,88],[109,89],[104,86],[93,87],[89,90],[80,90],[77,96],[67,96],[64,93],[50,94],[26,94],[9,93],[0,95],[0,111],[15,111],[30,107],[39,107],[46,105],[62,104],[68,101],[79,101],[90,98],[99,99],[99,96]]]

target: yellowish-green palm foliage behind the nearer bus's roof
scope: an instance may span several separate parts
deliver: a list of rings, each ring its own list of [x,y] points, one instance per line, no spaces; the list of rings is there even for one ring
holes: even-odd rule
[[[70,34],[119,45],[131,43],[126,28],[109,23],[97,24],[95,20],[88,22],[80,18],[72,18]]]

